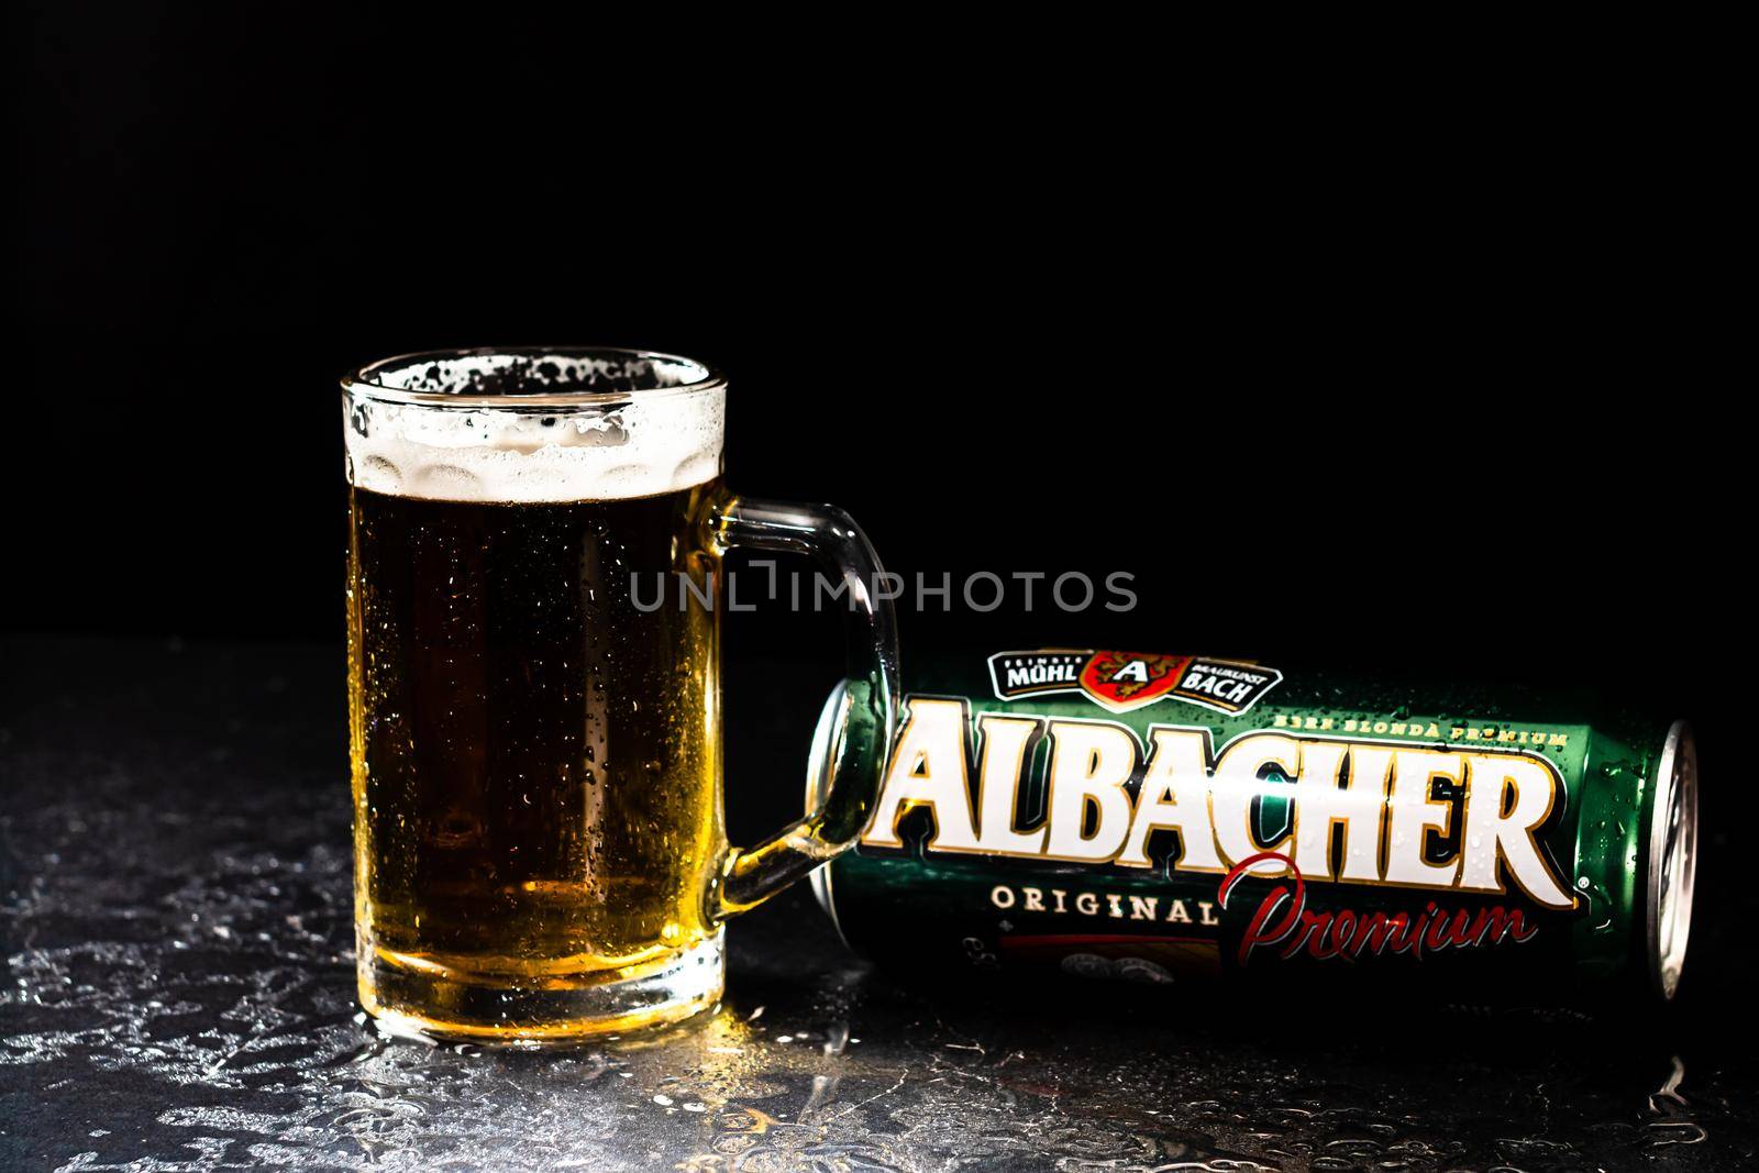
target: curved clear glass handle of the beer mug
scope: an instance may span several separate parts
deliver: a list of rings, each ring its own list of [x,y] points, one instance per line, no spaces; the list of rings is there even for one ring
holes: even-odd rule
[[[806,554],[848,589],[843,719],[832,739],[830,786],[816,811],[749,849],[734,848],[711,893],[718,918],[756,907],[855,844],[867,828],[897,723],[897,623],[892,600],[876,596],[881,566],[867,535],[830,505],[725,498],[709,517],[709,538],[730,547]]]

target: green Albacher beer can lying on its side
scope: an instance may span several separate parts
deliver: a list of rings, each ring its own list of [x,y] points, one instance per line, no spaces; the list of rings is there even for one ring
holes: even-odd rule
[[[950,971],[1671,999],[1682,721],[1530,686],[1036,649],[913,679],[874,818],[813,876],[844,941]],[[844,700],[813,739],[807,809]]]

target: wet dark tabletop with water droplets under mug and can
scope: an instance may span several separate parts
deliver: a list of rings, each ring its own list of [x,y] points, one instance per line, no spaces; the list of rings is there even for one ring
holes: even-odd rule
[[[892,983],[795,892],[730,929],[705,1020],[480,1053],[380,1039],[354,1002],[336,651],[4,651],[4,1168],[1734,1169],[1759,1147],[1726,828],[1669,1013],[973,1002]],[[785,758],[792,784],[821,693],[770,684],[730,772]]]

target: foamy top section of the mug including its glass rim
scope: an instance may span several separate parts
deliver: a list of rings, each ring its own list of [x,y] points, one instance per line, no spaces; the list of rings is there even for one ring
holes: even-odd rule
[[[436,396],[459,406],[434,410]],[[559,396],[586,403],[558,404]],[[719,473],[726,387],[700,362],[668,355],[429,355],[362,369],[345,410],[348,480],[359,489],[433,501],[617,501]]]

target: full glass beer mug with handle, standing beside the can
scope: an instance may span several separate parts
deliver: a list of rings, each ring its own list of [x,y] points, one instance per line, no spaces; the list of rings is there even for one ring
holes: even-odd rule
[[[357,965],[387,1029],[545,1041],[693,1015],[721,995],[723,922],[865,825],[897,707],[880,563],[839,510],[728,492],[725,408],[714,371],[630,350],[343,380]],[[735,545],[807,554],[851,600],[834,784],[751,849],[721,825]]]

